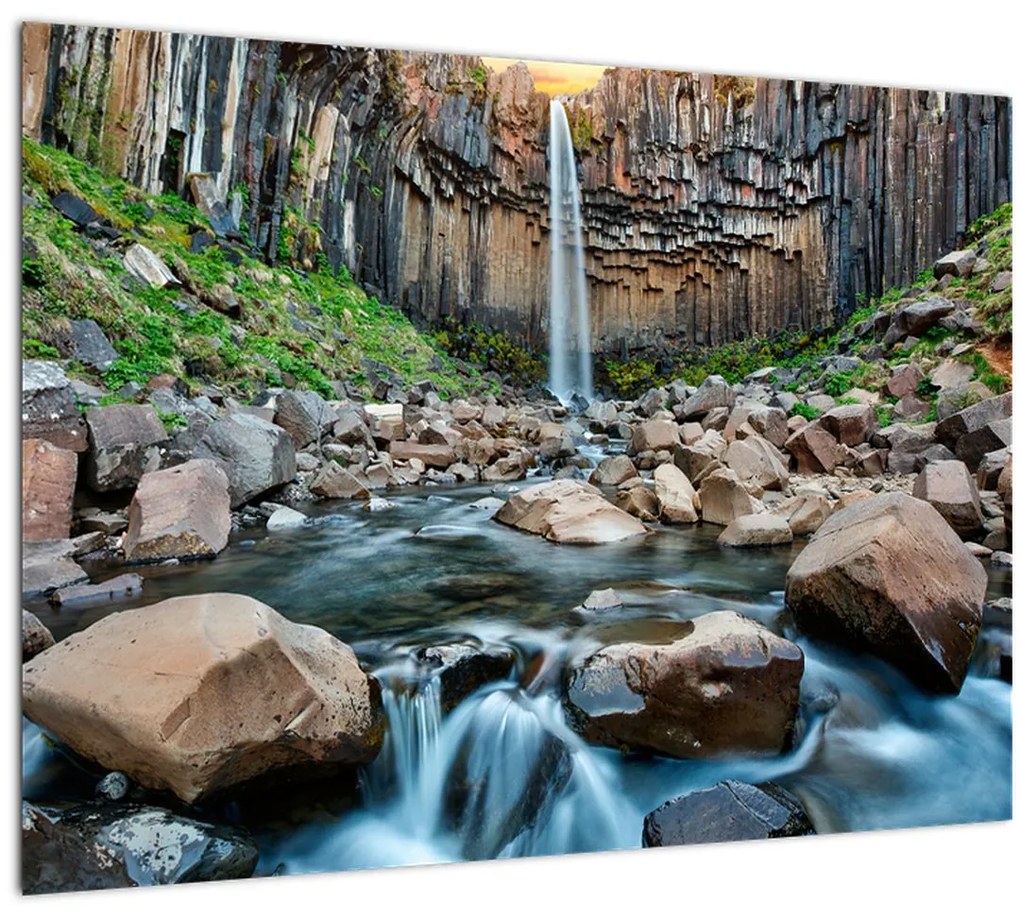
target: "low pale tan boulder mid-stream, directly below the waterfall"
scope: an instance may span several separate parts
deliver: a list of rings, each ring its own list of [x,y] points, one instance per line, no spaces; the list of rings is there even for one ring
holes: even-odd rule
[[[493,519],[550,542],[599,545],[642,536],[636,519],[614,507],[592,484],[561,479],[513,495]]]

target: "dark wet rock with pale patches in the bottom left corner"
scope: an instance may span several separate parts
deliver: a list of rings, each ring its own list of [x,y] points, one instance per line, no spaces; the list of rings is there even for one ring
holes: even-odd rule
[[[21,804],[26,894],[240,879],[258,848],[242,828],[137,804]]]

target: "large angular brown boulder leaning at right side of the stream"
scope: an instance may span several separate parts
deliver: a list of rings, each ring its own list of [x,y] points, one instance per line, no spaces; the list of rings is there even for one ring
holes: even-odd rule
[[[933,692],[957,693],[987,576],[924,501],[880,494],[833,513],[786,574],[805,631],[867,650]]]

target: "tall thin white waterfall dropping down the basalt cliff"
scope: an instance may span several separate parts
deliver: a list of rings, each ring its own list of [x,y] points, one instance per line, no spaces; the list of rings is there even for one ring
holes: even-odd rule
[[[549,389],[566,404],[592,398],[592,335],[588,318],[584,253],[580,239],[580,187],[570,124],[562,103],[550,103]]]

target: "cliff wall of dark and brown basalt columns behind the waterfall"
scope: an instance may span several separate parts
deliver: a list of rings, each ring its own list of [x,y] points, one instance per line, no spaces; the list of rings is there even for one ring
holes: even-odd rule
[[[564,100],[596,351],[824,325],[1011,198],[1009,99],[617,68]],[[549,100],[522,65],[28,24],[22,129],[149,192],[214,176],[270,259],[412,316],[548,322]]]

